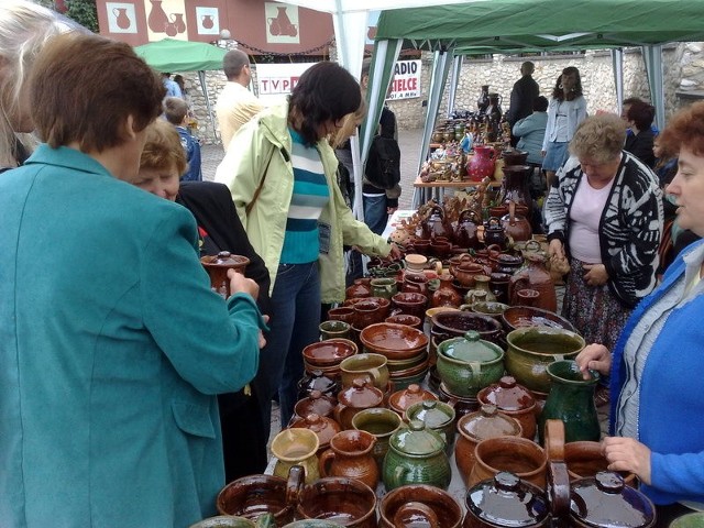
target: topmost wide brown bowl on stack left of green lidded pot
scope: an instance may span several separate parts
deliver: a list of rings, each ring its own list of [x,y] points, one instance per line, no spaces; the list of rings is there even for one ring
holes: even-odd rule
[[[362,330],[360,341],[370,352],[389,360],[415,358],[428,346],[428,337],[420,330],[391,322],[370,324]]]

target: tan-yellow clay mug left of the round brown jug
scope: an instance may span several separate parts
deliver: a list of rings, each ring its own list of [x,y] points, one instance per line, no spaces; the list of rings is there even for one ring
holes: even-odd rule
[[[320,447],[318,436],[310,429],[284,429],[272,440],[272,454],[276,457],[274,475],[287,477],[294,465],[305,471],[305,482],[310,483],[320,477],[316,452]]]

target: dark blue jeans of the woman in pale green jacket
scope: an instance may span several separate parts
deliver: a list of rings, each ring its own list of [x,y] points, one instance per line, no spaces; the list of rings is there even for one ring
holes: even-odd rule
[[[302,350],[320,339],[320,276],[318,262],[280,264],[272,292],[273,317],[266,346],[260,353],[255,380],[262,395],[264,422],[271,429],[272,398],[278,392],[282,428],[294,414],[298,381],[304,375]]]

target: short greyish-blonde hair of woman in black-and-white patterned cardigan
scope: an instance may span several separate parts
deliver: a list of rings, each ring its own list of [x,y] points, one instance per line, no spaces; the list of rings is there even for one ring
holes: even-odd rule
[[[620,155],[626,141],[626,123],[615,113],[586,118],[574,132],[570,153],[593,163],[606,163]]]

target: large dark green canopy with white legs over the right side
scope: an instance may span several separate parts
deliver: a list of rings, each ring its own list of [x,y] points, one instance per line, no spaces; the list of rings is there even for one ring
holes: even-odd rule
[[[435,52],[431,92],[421,152],[425,153],[450,67],[459,73],[459,56],[472,53],[519,53],[614,48],[615,73],[619,48],[644,46],[650,92],[659,125],[663,125],[662,44],[704,40],[702,0],[474,0],[460,4],[382,12],[376,31],[374,67],[370,79],[370,114],[381,112],[389,72],[400,43]],[[433,85],[439,88],[433,89]],[[618,75],[617,75],[618,85]],[[623,96],[623,94],[622,94]],[[372,128],[362,130],[362,153]],[[421,162],[425,156],[421,155]]]

